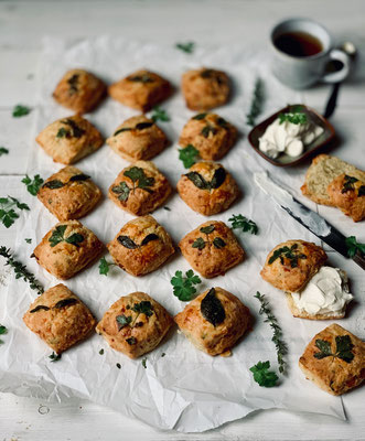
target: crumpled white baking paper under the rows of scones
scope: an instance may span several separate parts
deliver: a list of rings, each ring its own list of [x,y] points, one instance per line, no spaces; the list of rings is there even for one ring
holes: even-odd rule
[[[180,93],[180,78],[184,71],[202,65],[221,68],[230,75],[234,83],[233,99],[216,111],[240,131],[238,142],[221,162],[237,180],[243,196],[227,212],[213,218],[228,223],[232,214],[240,213],[257,223],[259,234],[253,236],[236,230],[238,240],[246,250],[245,261],[225,276],[212,280],[203,279],[198,290],[202,292],[211,287],[222,287],[237,295],[251,311],[253,331],[234,347],[229,358],[211,357],[195,349],[174,329],[157,349],[147,355],[146,368],[141,359],[131,361],[109,348],[97,334],[65,352],[60,362],[51,363],[50,348],[22,322],[22,315],[36,293],[11,275],[8,291],[2,290],[4,292],[0,294],[0,320],[9,329],[7,342],[0,348],[1,391],[58,401],[72,396],[86,398],[157,428],[182,432],[201,432],[243,418],[254,410],[269,408],[345,418],[342,399],[321,391],[305,380],[298,367],[298,359],[305,345],[316,332],[330,323],[292,318],[285,295],[259,276],[268,251],[278,243],[288,238],[319,243],[256,187],[253,180],[253,172],[267,169],[301,198],[299,187],[303,181],[304,168],[275,169],[257,155],[247,140],[249,127],[246,126],[245,115],[249,110],[258,75],[265,82],[267,97],[261,118],[287,103],[299,103],[302,98],[300,94],[287,89],[271,77],[266,53],[248,50],[244,45],[197,45],[194,54],[190,55],[173,45],[142,44],[108,36],[68,44],[62,40],[47,39],[41,65],[39,105],[34,110],[37,117],[30,146],[28,173],[39,173],[46,179],[63,166],[54,163],[35,143],[34,138],[50,122],[71,115],[51,96],[66,69],[90,69],[110,84],[137,68],[146,67],[162,74],[176,87],[173,97],[161,105],[170,115],[171,121],[159,122],[171,140],[171,146],[153,160],[175,186],[180,175],[185,172],[178,159],[179,133],[194,115],[185,107]],[[121,121],[132,115],[137,115],[137,111],[107,98],[87,118],[108,137]],[[104,195],[126,165],[128,163],[107,144],[76,164],[83,172],[92,175]],[[23,198],[30,201],[30,195],[24,193]],[[315,209],[314,204],[309,201],[305,203]],[[31,198],[30,205],[30,213],[15,224],[19,230],[17,257],[49,289],[60,281],[39,267],[34,259],[30,259],[30,255],[57,219],[36,197]],[[206,217],[189,208],[176,193],[165,205],[171,211],[159,208],[153,216],[167,228],[175,244],[187,232],[206,220]],[[131,218],[131,215],[105,197],[82,222],[106,244]],[[32,238],[32,244],[25,243],[24,238]],[[110,256],[107,258],[111,260]],[[176,314],[185,303],[173,295],[170,279],[176,270],[186,271],[189,268],[185,259],[176,252],[167,265],[149,276],[136,278],[112,267],[106,278],[99,275],[96,261],[65,284],[90,308],[98,320],[119,297],[133,291],[151,294],[171,314]],[[269,299],[289,346],[286,357],[288,375],[280,377],[279,387],[259,387],[249,372],[249,367],[257,362],[267,359],[277,369],[271,329],[258,314],[259,302],[254,298],[256,291]],[[99,355],[101,348],[105,351],[104,355]],[[162,353],[165,353],[164,357]],[[117,363],[121,365],[120,369],[117,368]]]

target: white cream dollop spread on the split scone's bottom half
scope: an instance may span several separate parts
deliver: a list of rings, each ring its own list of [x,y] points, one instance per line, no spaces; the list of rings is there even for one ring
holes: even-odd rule
[[[291,295],[296,306],[311,315],[342,315],[353,299],[346,272],[332,267],[322,267],[301,292]]]

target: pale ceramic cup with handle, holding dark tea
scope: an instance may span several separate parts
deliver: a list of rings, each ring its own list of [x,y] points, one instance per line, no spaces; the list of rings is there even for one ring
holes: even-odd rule
[[[293,56],[282,52],[276,45],[279,35],[288,32],[305,32],[315,36],[322,44],[322,51],[310,56]],[[271,47],[273,50],[272,73],[286,86],[293,89],[303,89],[322,80],[337,83],[343,80],[350,72],[350,57],[332,46],[329,32],[319,23],[310,19],[289,19],[277,24],[271,31]],[[325,66],[331,60],[340,61],[341,71],[325,74]]]

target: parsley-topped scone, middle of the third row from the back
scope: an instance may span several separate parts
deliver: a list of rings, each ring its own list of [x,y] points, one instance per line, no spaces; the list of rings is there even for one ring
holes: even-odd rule
[[[167,178],[152,162],[137,161],[118,174],[108,196],[118,207],[143,216],[161,206],[171,190]]]

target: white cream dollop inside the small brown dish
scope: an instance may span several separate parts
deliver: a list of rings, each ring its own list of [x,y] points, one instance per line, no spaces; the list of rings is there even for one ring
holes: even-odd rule
[[[276,119],[270,123],[261,138],[259,149],[269,158],[277,158],[280,153],[289,157],[299,157],[305,146],[311,144],[323,133],[323,128],[308,120],[304,123],[292,123]]]

